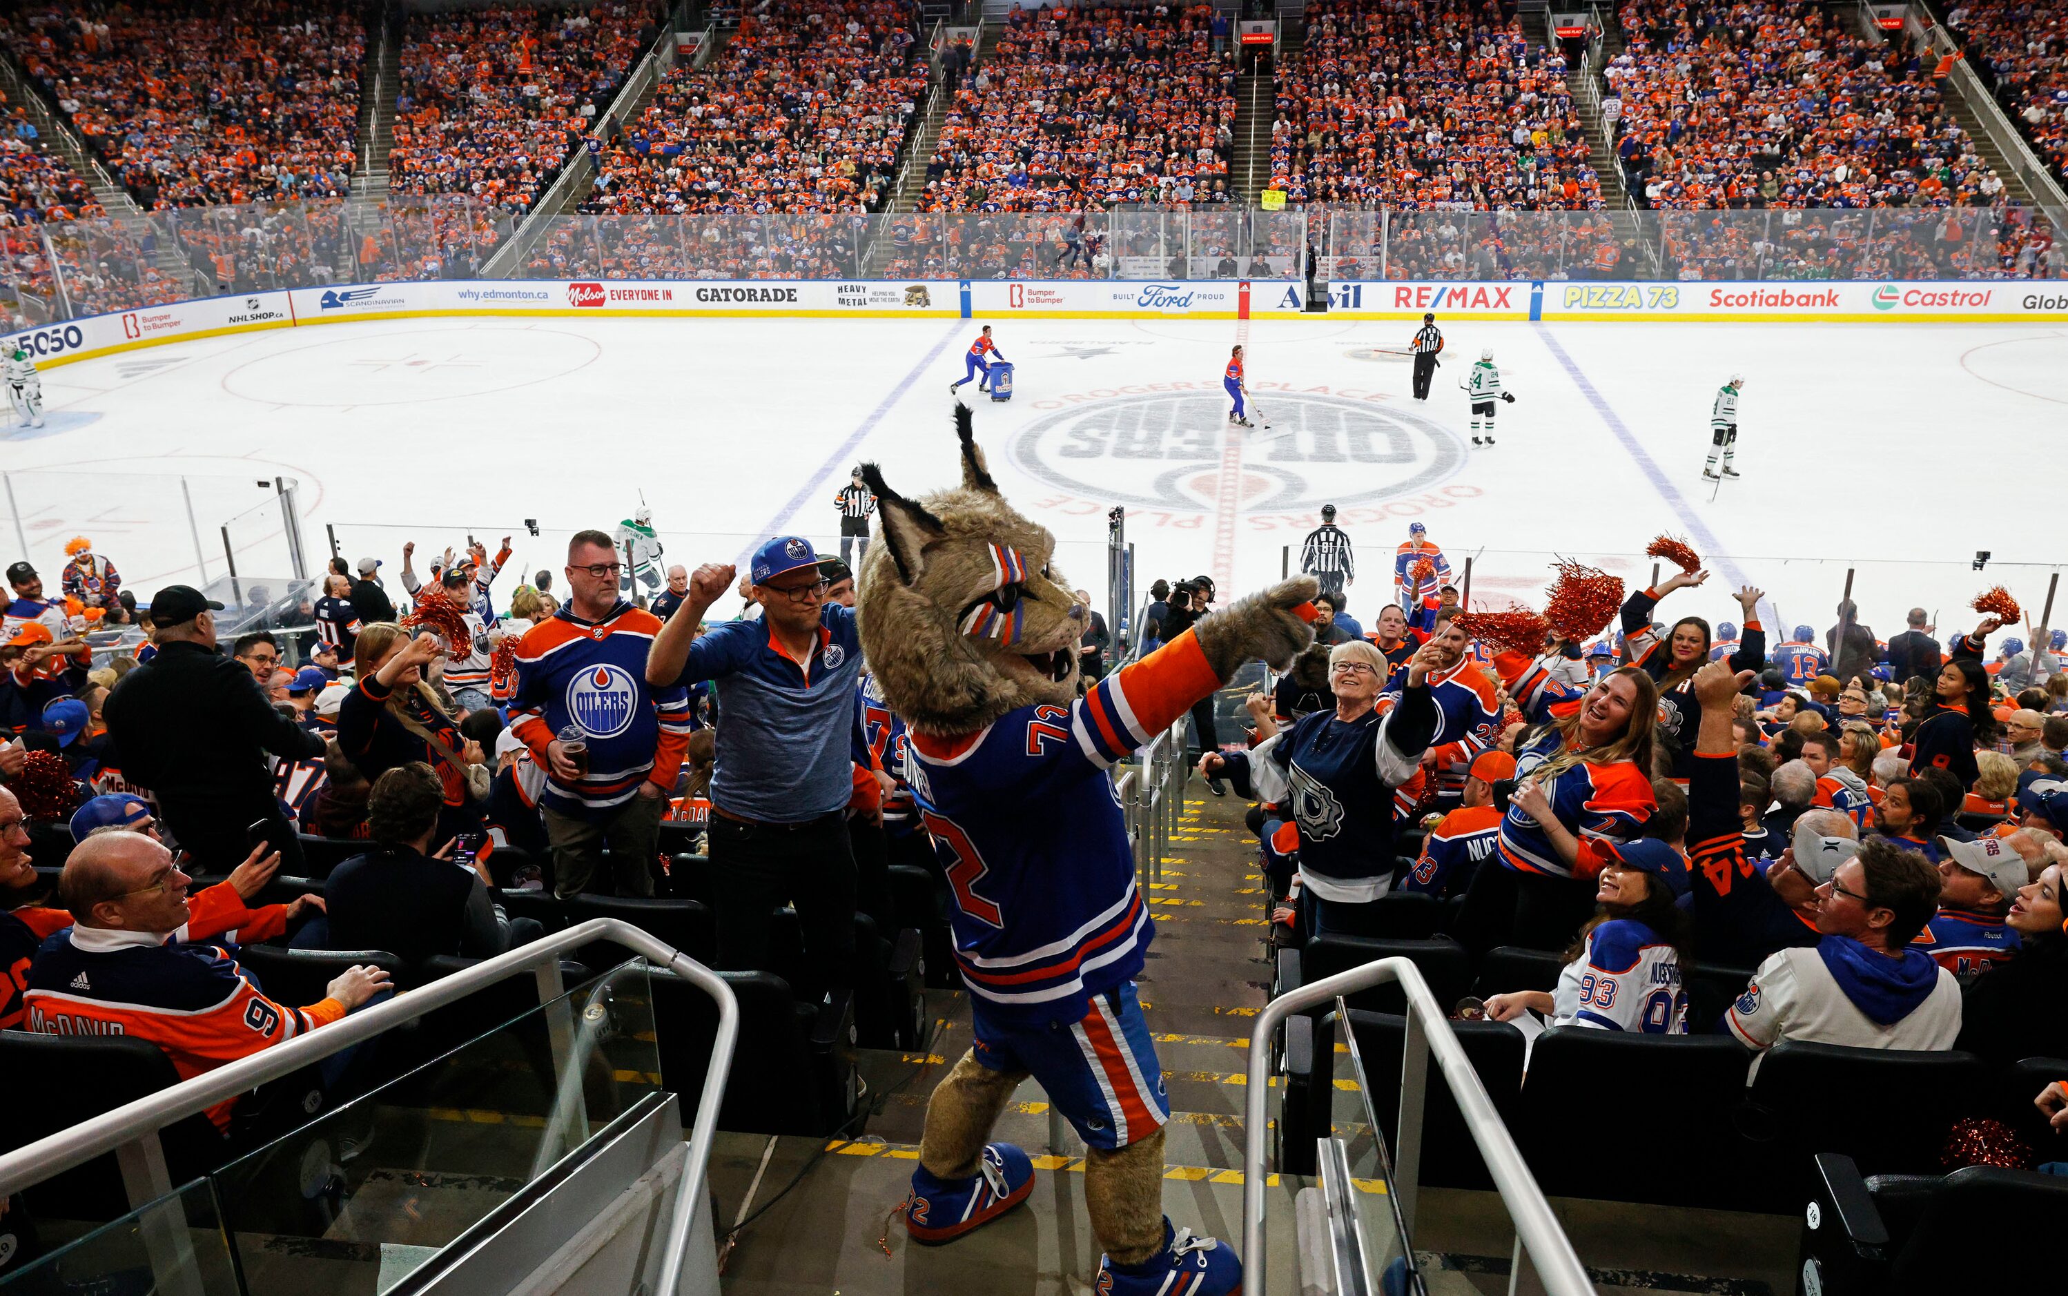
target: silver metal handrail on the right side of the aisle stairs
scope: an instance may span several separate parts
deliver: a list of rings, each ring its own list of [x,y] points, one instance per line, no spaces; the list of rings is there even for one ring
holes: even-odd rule
[[[1450,1019],[1429,992],[1429,982],[1410,959],[1377,959],[1350,971],[1321,978],[1299,990],[1288,990],[1264,1005],[1257,1023],[1249,1031],[1249,1087],[1243,1098],[1243,1296],[1264,1296],[1264,1100],[1270,1083],[1270,1042],[1278,1023],[1340,994],[1398,982],[1406,994],[1406,1042],[1400,1060],[1400,1127],[1394,1149],[1394,1193],[1400,1220],[1415,1228],[1415,1195],[1421,1178],[1421,1122],[1423,1087],[1427,1085],[1429,1054],[1443,1071],[1443,1081],[1464,1116],[1464,1127],[1479,1145],[1493,1189],[1501,1195],[1510,1220],[1516,1224],[1516,1242],[1528,1251],[1543,1288],[1549,1296],[1592,1296],[1594,1284],[1586,1267],[1565,1240],[1551,1203],[1545,1201],[1537,1176],[1530,1174],[1522,1151],[1508,1135],[1508,1127],[1493,1110],[1487,1087],[1479,1083],[1472,1060],[1464,1056],[1464,1046],[1450,1029]],[[1344,1025],[1348,1029],[1348,1025]],[[1412,1238],[1402,1238],[1412,1244]]]

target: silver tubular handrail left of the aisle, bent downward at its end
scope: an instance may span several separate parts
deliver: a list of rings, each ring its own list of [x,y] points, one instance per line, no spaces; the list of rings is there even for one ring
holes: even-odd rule
[[[139,1098],[132,1104],[103,1112],[93,1120],[81,1120],[79,1124],[58,1131],[48,1139],[37,1139],[27,1147],[17,1147],[14,1151],[0,1155],[0,1199],[19,1193],[21,1189],[39,1184],[54,1174],[70,1170],[72,1166],[83,1166],[97,1155],[122,1151],[139,1143],[155,1145],[157,1131],[174,1124],[176,1120],[205,1112],[219,1102],[256,1089],[258,1085],[300,1071],[302,1067],[321,1062],[323,1058],[343,1052],[354,1044],[364,1044],[366,1040],[395,1029],[397,1025],[407,1025],[424,1013],[459,1002],[467,994],[517,976],[519,971],[538,969],[542,982],[550,974],[550,980],[556,986],[560,980],[560,955],[581,949],[594,940],[610,940],[645,955],[649,961],[672,969],[676,976],[718,1000],[718,1033],[711,1040],[711,1069],[703,1077],[697,1122],[689,1137],[689,1162],[682,1166],[682,1184],[674,1199],[674,1217],[668,1224],[668,1246],[662,1255],[662,1273],[653,1288],[656,1292],[672,1296],[682,1279],[682,1253],[689,1246],[689,1232],[697,1217],[697,1199],[703,1195],[711,1145],[718,1139],[718,1108],[724,1102],[726,1077],[732,1071],[732,1048],[740,1031],[740,1005],[732,994],[732,986],[728,986],[724,978],[713,974],[709,967],[697,963],[666,940],[653,938],[645,928],[637,928],[618,918],[591,918],[583,924],[567,928],[565,932],[546,936],[544,940],[521,945],[509,953],[484,959],[474,967],[438,978],[428,986],[407,990],[387,1002],[352,1013],[343,1021],[333,1021],[331,1025],[267,1048],[265,1052],[254,1052],[246,1058],[230,1062],[227,1067],[217,1067],[215,1071],[196,1075],[194,1079],[182,1081],[170,1089],[159,1089],[157,1093]],[[540,998],[546,1002],[550,998],[558,998],[558,994],[542,994]],[[132,1205],[141,1207],[145,1203],[139,1201]]]

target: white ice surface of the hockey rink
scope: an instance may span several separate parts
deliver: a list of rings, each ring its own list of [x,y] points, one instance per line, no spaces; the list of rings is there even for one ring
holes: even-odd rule
[[[1714,577],[1667,614],[1737,620],[1727,587],[1752,581],[1783,626],[1822,632],[1853,566],[1882,637],[1911,604],[1967,626],[1965,604],[1994,583],[2037,618],[2068,558],[2018,482],[2068,428],[2062,331],[1439,322],[1448,362],[1427,403],[1406,362],[1373,358],[1412,325],[1348,320],[1005,318],[995,339],[1015,397],[964,393],[1009,498],[1055,531],[1059,566],[1100,604],[1113,504],[1127,506],[1142,585],[1212,573],[1226,597],[1274,579],[1284,546],[1297,568],[1334,502],[1365,618],[1417,519],[1456,568],[1474,558],[1474,604],[1534,601],[1553,554],[1642,583],[1644,546],[1671,531]],[[246,579],[283,577],[279,513],[258,486],[275,475],[300,482],[312,566],[331,533],[389,575],[403,539],[422,570],[426,550],[472,533],[490,548],[513,535],[519,570],[558,568],[569,531],[610,529],[641,492],[670,562],[734,562],[769,533],[827,544],[833,492],[860,459],[908,494],[953,482],[947,382],[976,329],[416,318],[227,335],[50,368],[50,426],[0,430],[0,465],[45,575],[85,533],[143,589],[194,579],[196,550],[221,577],[225,529]],[[1270,432],[1224,424],[1239,329]],[[1458,389],[1481,347],[1516,395],[1493,449],[1470,446]],[[1731,372],[1747,378],[1743,477],[1712,490],[1708,411]]]

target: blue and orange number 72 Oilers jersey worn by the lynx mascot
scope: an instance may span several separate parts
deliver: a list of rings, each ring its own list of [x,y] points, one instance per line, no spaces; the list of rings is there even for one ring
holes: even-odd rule
[[[910,736],[906,781],[955,897],[955,961],[986,1013],[1079,1021],[1142,971],[1154,928],[1106,767],[1218,684],[1187,630],[1071,707]]]

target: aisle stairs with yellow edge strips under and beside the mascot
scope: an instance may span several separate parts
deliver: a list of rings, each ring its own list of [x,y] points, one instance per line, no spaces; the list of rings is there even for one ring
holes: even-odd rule
[[[1218,1238],[1241,1234],[1243,1096],[1249,1021],[1264,1007],[1268,916],[1253,864],[1245,804],[1208,798],[1187,785],[1179,852],[1148,889],[1156,943],[1142,974],[1142,1009],[1156,1040],[1170,1100],[1164,1143],[1164,1209],[1173,1222]],[[1036,1189],[1028,1209],[991,1224],[953,1246],[912,1246],[904,1228],[877,1240],[885,1215],[904,1197],[918,1158],[926,1096],[970,1046],[968,1000],[953,992],[935,1013],[931,1052],[862,1052],[877,1112],[854,1141],[724,1135],[711,1160],[718,1226],[742,1209],[767,1209],[740,1234],[726,1269],[726,1290],[776,1292],[1084,1292],[1098,1271],[1098,1242],[1084,1215],[1084,1145],[1065,1122],[1051,1122],[1046,1096],[1028,1081],[999,1120],[997,1137],[1034,1155]],[[1061,1139],[1051,1145],[1051,1131]],[[817,1162],[813,1155],[825,1151]],[[759,1186],[747,1201],[767,1155]],[[769,1205],[786,1184],[786,1197]],[[1292,1197],[1309,1180],[1272,1176],[1266,1197],[1278,1246],[1270,1255],[1272,1292],[1297,1290],[1292,1277]],[[1379,1191],[1365,1182],[1363,1191]],[[744,1207],[742,1207],[744,1203]],[[798,1246],[813,1238],[811,1246]]]

